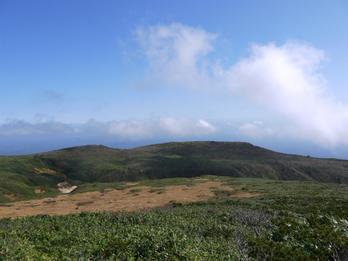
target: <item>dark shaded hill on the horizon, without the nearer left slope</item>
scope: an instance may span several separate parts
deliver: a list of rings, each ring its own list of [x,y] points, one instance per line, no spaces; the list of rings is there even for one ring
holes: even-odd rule
[[[348,161],[286,155],[250,143],[163,143],[129,150],[82,146],[35,157],[84,182],[226,175],[348,183]]]

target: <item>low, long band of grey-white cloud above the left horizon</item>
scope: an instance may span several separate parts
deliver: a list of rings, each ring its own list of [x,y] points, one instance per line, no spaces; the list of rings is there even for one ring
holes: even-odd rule
[[[151,138],[164,136],[201,136],[217,132],[219,129],[205,120],[189,117],[159,117],[157,120],[111,120],[100,122],[90,119],[77,126],[63,124],[53,120],[31,123],[13,120],[0,125],[0,136],[35,135],[35,134],[97,134],[118,136],[127,139]]]

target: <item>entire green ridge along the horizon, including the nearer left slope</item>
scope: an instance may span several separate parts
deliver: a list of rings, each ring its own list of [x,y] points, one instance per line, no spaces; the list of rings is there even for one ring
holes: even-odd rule
[[[128,150],[84,145],[0,156],[0,195],[54,192],[65,180],[81,184],[200,175],[348,184],[348,161],[287,155],[242,142],[162,143]]]

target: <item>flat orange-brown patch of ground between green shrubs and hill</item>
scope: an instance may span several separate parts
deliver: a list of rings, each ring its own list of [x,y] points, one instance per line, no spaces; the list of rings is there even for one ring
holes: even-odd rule
[[[10,207],[0,207],[0,219],[4,217],[22,217],[36,214],[61,215],[70,213],[79,213],[82,211],[117,211],[134,210],[143,207],[158,207],[170,202],[188,203],[196,201],[205,201],[214,196],[209,189],[218,187],[221,189],[230,189],[230,187],[221,186],[221,182],[208,181],[196,184],[192,187],[168,186],[161,189],[167,189],[162,192],[152,192],[154,187],[132,187],[123,191],[106,189],[103,192],[87,192],[80,194],[63,194],[56,198],[44,198],[40,200],[19,201],[8,203]],[[132,189],[141,189],[132,193]],[[232,196],[252,197],[258,196],[256,193],[241,193]]]

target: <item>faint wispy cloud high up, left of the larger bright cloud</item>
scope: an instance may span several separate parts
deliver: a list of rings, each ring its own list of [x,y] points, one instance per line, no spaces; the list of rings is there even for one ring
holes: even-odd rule
[[[139,27],[136,35],[150,65],[148,80],[164,86],[209,86],[205,57],[214,50],[216,35],[179,23]]]

